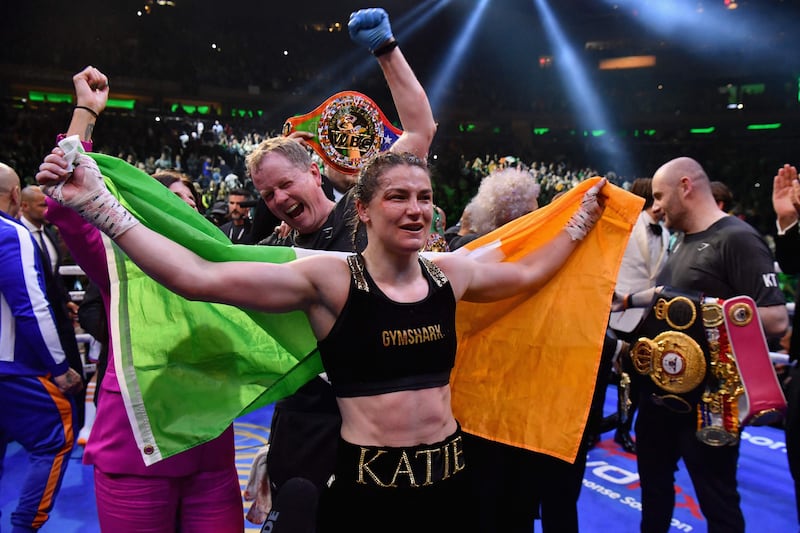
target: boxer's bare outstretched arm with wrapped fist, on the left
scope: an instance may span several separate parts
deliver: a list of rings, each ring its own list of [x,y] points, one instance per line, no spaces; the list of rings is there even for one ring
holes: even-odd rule
[[[335,257],[281,265],[206,261],[140,224],[106,189],[94,159],[80,154],[74,171],[68,168],[63,150],[55,148],[40,165],[36,179],[56,201],[72,207],[112,238],[145,273],[185,298],[264,312],[301,310],[310,315],[313,308],[318,319],[323,314],[320,308],[325,307],[319,305],[321,300],[330,299],[338,287],[330,281],[332,271],[339,268],[347,276],[342,270],[346,266]],[[310,318],[313,327],[314,317]]]

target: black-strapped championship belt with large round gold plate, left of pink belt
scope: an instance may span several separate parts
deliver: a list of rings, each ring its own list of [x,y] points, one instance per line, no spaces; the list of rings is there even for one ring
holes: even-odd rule
[[[657,405],[689,413],[700,401],[708,367],[708,344],[700,320],[699,293],[664,287],[656,293],[631,347],[642,390]]]

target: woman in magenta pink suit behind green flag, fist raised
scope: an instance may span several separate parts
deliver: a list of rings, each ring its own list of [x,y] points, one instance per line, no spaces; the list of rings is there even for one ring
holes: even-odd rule
[[[77,106],[67,135],[78,134],[90,149],[97,115],[108,100],[108,79],[96,68],[87,67],[73,77],[73,83]],[[170,188],[182,198],[187,196],[180,180]],[[100,287],[108,314],[106,246],[111,241],[72,209],[49,198],[47,203],[48,220],[58,227],[75,261]],[[145,466],[117,381],[113,343],[109,344],[97,415],[83,455],[83,462],[94,466],[100,529],[113,533],[241,533],[244,512],[233,426],[212,441]]]

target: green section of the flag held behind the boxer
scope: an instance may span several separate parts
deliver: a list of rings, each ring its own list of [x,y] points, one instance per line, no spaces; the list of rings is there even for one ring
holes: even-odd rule
[[[285,247],[230,244],[152,177],[89,154],[111,192],[149,228],[210,261],[295,259]],[[322,371],[308,320],[192,302],[145,275],[115,247],[117,373],[144,456],[152,463],[218,436],[237,416],[294,392]],[[112,276],[113,277],[113,276]]]

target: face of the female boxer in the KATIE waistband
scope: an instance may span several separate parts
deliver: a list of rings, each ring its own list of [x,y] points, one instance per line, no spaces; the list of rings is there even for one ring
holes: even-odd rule
[[[433,218],[433,190],[425,168],[398,164],[377,178],[371,198],[357,203],[369,242],[387,249],[417,252],[425,246]]]

